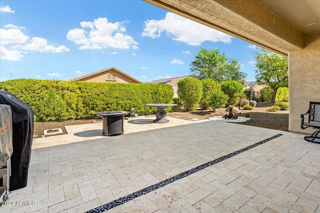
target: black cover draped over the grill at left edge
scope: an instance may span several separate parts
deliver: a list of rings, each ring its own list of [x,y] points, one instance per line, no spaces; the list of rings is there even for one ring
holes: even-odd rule
[[[9,92],[0,90],[0,104],[11,107],[12,146],[10,190],[26,187],[33,138],[33,112],[30,106]]]

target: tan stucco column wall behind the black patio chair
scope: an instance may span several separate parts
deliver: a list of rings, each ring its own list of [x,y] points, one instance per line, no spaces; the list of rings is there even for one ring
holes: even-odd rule
[[[305,47],[289,52],[289,131],[312,133],[300,128],[300,114],[308,110],[309,101],[320,102],[320,32],[304,36]]]

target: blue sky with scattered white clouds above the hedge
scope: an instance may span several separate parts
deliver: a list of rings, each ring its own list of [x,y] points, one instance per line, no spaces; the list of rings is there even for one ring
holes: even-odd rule
[[[189,75],[202,48],[254,81],[255,45],[141,0],[1,0],[0,81],[69,80],[107,67],[143,82]]]

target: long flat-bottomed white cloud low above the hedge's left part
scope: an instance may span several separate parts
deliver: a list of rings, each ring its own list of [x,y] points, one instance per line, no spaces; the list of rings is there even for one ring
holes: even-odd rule
[[[47,40],[40,37],[33,37],[31,43],[24,46],[19,46],[22,50],[29,50],[34,52],[67,52],[70,49],[66,48],[64,45],[54,47],[53,45],[48,45]]]

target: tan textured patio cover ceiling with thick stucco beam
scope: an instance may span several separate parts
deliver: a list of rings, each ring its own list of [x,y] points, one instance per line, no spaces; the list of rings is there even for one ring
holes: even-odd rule
[[[320,31],[320,0],[144,1],[285,56]]]

